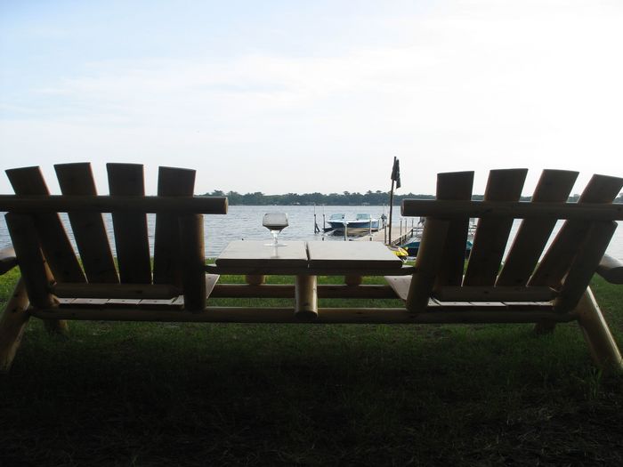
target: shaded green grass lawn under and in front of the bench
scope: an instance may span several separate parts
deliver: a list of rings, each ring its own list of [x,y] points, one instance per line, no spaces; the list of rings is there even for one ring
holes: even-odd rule
[[[623,287],[594,290],[623,342]],[[574,324],[70,329],[32,319],[0,377],[2,467],[623,464],[623,378]]]

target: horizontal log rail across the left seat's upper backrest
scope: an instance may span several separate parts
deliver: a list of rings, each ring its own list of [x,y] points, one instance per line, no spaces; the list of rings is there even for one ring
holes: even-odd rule
[[[226,214],[227,197],[0,195],[0,211],[11,213]]]

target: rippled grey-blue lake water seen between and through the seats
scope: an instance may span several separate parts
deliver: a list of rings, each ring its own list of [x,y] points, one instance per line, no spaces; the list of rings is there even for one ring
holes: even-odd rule
[[[223,251],[223,248],[231,242],[231,240],[266,240],[271,241],[271,233],[262,226],[262,217],[264,213],[282,212],[287,213],[289,226],[281,232],[279,238],[284,241],[290,240],[320,240],[325,238],[327,241],[344,241],[342,236],[333,236],[322,234],[314,234],[314,206],[249,206],[249,205],[232,205],[229,213],[225,215],[206,215],[205,236],[206,236],[206,256],[214,257]],[[328,220],[333,213],[345,213],[347,217],[354,218],[357,213],[369,213],[372,217],[380,217],[381,214],[388,214],[388,207],[384,206],[316,206],[316,219],[320,229],[322,229],[323,213]],[[61,219],[69,225],[66,214],[61,214]],[[113,238],[112,223],[109,214],[104,214],[109,238]],[[394,207],[393,224],[396,226],[400,222],[400,207]],[[405,224],[411,226],[413,218],[404,218]],[[607,253],[619,260],[623,260],[623,226],[620,225],[614,233]],[[560,228],[562,222],[556,226],[556,230]],[[150,247],[153,254],[153,235],[155,226],[155,215],[148,214],[148,227],[150,234]],[[514,223],[511,238],[519,226],[519,221]],[[395,229],[395,227],[394,227]],[[69,231],[69,238],[73,243]],[[510,245],[511,242],[509,242]],[[10,246],[11,238],[6,229],[4,215],[0,215],[0,247]],[[111,245],[114,242],[111,241]]]

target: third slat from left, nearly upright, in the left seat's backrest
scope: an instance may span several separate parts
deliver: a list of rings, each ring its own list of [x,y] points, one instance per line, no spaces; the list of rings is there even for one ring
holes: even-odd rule
[[[110,195],[145,195],[140,164],[107,164]],[[112,213],[119,277],[123,284],[150,284],[150,244],[144,213]]]

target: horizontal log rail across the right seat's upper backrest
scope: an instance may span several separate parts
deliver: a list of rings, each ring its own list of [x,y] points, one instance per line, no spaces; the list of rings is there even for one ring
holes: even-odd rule
[[[401,213],[405,216],[430,216],[437,219],[495,217],[623,221],[623,204],[405,199],[402,201]]]

